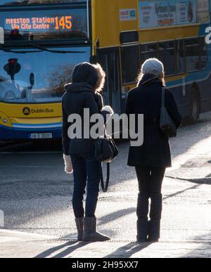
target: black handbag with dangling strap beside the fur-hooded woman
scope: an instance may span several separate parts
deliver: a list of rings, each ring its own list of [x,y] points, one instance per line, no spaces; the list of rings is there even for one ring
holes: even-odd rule
[[[110,181],[110,162],[115,160],[119,151],[113,138],[105,135],[104,137],[99,137],[95,142],[95,158],[99,162],[99,172],[101,176],[101,187],[104,193],[108,191],[108,185]],[[102,163],[107,164],[107,177],[106,177],[106,185],[103,179],[103,169]]]

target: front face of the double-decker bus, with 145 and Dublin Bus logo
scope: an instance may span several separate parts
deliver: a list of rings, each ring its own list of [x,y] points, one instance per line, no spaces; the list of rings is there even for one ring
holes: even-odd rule
[[[0,0],[0,140],[61,137],[63,86],[91,57],[91,3]]]

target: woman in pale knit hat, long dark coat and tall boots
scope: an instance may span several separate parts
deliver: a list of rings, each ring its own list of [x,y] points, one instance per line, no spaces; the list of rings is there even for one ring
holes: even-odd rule
[[[136,167],[139,181],[137,240],[157,242],[162,214],[162,181],[165,169],[172,165],[169,139],[160,130],[162,88],[165,87],[163,64],[156,58],[146,60],[138,81],[137,87],[127,96],[126,113],[144,115],[144,139],[143,145],[129,148],[128,165]],[[168,89],[165,89],[165,107],[178,129],[181,115]]]

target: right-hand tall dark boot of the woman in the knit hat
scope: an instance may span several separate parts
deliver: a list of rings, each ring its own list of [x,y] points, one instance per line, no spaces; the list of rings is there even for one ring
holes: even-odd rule
[[[151,197],[151,212],[148,224],[148,242],[158,242],[160,239],[160,220],[162,214],[162,195]]]

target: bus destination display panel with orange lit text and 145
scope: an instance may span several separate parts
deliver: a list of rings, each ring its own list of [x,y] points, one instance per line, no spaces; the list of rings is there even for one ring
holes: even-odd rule
[[[87,39],[87,8],[2,11],[5,41]]]

